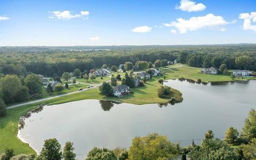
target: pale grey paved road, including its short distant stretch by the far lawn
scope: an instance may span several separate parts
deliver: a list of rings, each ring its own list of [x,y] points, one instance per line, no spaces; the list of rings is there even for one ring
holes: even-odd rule
[[[178,66],[171,66],[169,68],[177,68],[177,67],[184,66],[184,65],[186,65],[186,64],[182,64],[182,65],[178,65]],[[107,81],[107,82],[109,82],[109,81]],[[83,82],[79,82],[79,83],[81,83],[83,85],[92,85],[92,84],[83,83]],[[102,85],[102,83],[100,83],[100,84],[93,84],[92,88],[98,88],[101,85]],[[12,106],[7,107],[6,109],[8,110],[8,109],[15,108],[15,107],[20,107],[20,106],[24,106],[24,105],[28,105],[28,104],[42,102],[44,100],[49,100],[49,99],[59,98],[59,97],[63,97],[63,96],[73,95],[73,94],[76,94],[78,92],[82,92],[82,91],[86,91],[86,90],[89,90],[89,88],[85,88],[83,90],[77,90],[77,91],[69,92],[69,93],[63,94],[63,95],[58,95],[58,96],[53,96],[53,97],[48,97],[48,98],[43,98],[43,99],[33,100],[33,101],[30,101],[30,102],[25,102],[25,103],[20,103],[20,104],[12,105]]]

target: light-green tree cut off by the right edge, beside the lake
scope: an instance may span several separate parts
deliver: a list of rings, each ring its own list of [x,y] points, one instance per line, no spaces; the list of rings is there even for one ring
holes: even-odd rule
[[[254,109],[251,109],[251,111],[249,111],[248,117],[244,121],[242,137],[249,140],[252,138],[256,138],[256,111]]]

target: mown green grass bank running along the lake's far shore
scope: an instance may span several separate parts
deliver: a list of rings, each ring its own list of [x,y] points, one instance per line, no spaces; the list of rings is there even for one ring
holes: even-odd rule
[[[89,89],[86,91],[79,92],[77,94],[63,96],[59,98],[54,98],[50,100],[45,100],[43,102],[38,102],[34,104],[29,104],[25,106],[20,106],[17,108],[12,108],[7,110],[7,115],[5,117],[0,117],[0,154],[4,153],[5,148],[12,148],[15,154],[35,154],[35,151],[26,143],[22,142],[18,137],[18,122],[20,116],[34,110],[38,105],[45,104],[61,104],[67,102],[73,102],[83,99],[100,99],[100,100],[112,100],[122,103],[131,104],[155,104],[155,103],[167,103],[169,99],[162,99],[157,96],[157,88],[161,86],[158,83],[158,79],[174,79],[174,78],[186,78],[197,81],[201,79],[202,82],[207,81],[237,81],[245,79],[234,79],[232,80],[229,75],[209,75],[198,73],[199,68],[189,68],[188,66],[180,66],[177,68],[162,68],[165,72],[164,76],[153,77],[146,82],[144,87],[138,87],[131,89],[133,94],[124,97],[104,97],[99,94],[98,89]],[[246,78],[247,79],[247,78]],[[256,78],[253,78],[256,79]],[[173,89],[173,97],[180,99],[182,94]]]

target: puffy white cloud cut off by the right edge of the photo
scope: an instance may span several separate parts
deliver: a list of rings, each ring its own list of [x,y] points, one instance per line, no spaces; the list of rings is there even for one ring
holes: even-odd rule
[[[256,24],[253,25],[253,22],[256,22],[256,12],[251,13],[241,13],[239,14],[239,19],[244,20],[243,29],[244,30],[253,30],[256,31]]]

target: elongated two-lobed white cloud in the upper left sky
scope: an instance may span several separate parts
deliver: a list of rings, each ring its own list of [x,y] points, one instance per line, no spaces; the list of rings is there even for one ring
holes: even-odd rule
[[[70,11],[53,11],[50,12],[51,15],[49,16],[50,19],[59,19],[59,20],[70,20],[73,18],[83,18],[89,19],[88,17],[84,18],[84,16],[89,15],[89,11],[81,11],[81,14],[72,14]]]

